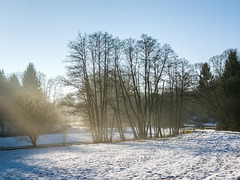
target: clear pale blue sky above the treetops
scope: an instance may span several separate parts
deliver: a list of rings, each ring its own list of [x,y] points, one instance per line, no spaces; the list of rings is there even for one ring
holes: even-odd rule
[[[240,49],[240,0],[0,0],[0,69],[64,75],[78,32],[147,34],[191,63]]]

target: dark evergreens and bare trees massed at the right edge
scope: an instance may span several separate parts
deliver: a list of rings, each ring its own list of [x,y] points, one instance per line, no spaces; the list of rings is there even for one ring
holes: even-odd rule
[[[207,113],[221,129],[240,131],[239,52],[227,50],[202,64],[198,82],[195,96]]]

